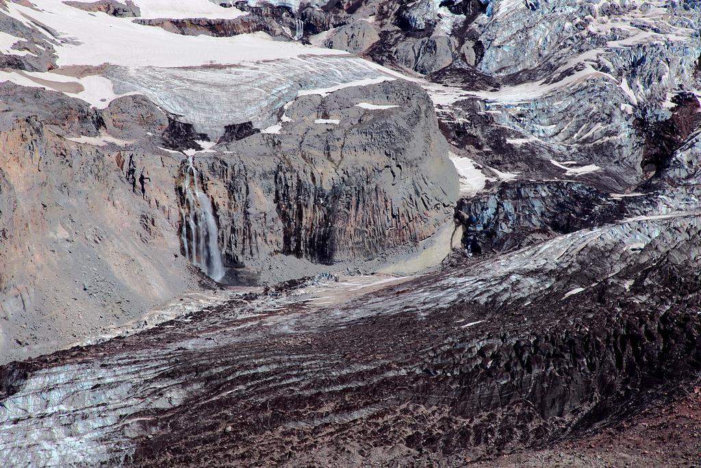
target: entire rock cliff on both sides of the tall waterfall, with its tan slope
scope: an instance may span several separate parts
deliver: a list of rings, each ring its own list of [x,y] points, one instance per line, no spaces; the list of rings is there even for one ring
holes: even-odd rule
[[[216,149],[143,96],[97,110],[4,92],[6,359],[137,319],[208,281],[191,264],[212,276],[215,254],[224,283],[281,281],[379,267],[451,223],[456,173],[433,105],[408,83],[300,97],[278,133]]]

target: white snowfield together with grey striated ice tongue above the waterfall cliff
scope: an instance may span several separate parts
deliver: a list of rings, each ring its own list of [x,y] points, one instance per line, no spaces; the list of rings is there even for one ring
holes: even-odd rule
[[[83,74],[99,74],[74,78],[13,70],[0,71],[0,81],[60,91],[98,108],[121,95],[143,94],[158,107],[183,116],[183,121],[193,123],[212,140],[232,121],[273,126],[271,112],[294,98],[300,88],[310,90],[303,95],[325,95],[348,86],[395,79],[388,69],[344,51],[275,41],[264,33],[184,36],[138,25],[131,18],[90,13],[58,0],[32,1],[36,8],[6,4],[8,15],[30,27],[35,27],[34,22],[46,27],[37,30],[54,45],[59,69],[76,65],[85,67]],[[137,3],[144,16],[236,13],[207,0]],[[15,39],[3,36],[2,44],[11,45]],[[97,68],[104,64],[115,67]],[[90,67],[95,68],[91,71]]]

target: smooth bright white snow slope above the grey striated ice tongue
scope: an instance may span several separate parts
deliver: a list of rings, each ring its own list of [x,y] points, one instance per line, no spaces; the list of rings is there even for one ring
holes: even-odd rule
[[[210,3],[197,0],[194,4],[201,2]],[[186,67],[230,65],[302,54],[347,55],[343,51],[273,41],[264,33],[233,37],[184,36],[172,34],[160,27],[138,25],[130,18],[90,13],[58,0],[32,0],[32,3],[36,8],[9,3],[8,13],[25,24],[27,18],[30,18],[58,32],[58,39],[48,32],[45,34],[51,41],[58,41],[55,49],[58,54],[57,64],[60,66],[110,63],[124,66]],[[189,0],[179,2],[181,6],[189,3]],[[162,0],[155,4],[166,5],[170,1]],[[182,8],[187,10],[189,7]],[[229,10],[214,4],[212,8]]]

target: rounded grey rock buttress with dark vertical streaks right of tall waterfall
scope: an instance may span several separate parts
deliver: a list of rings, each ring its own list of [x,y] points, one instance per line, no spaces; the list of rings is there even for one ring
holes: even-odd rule
[[[226,266],[266,275],[278,253],[362,262],[411,250],[451,220],[457,175],[421,88],[344,88],[297,98],[284,112],[279,133],[196,157]]]

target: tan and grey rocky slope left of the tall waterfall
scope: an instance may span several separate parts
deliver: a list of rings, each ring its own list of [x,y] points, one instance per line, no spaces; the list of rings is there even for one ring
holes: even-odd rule
[[[179,256],[181,157],[119,139],[165,130],[161,112],[139,96],[100,112],[0,88],[13,95],[0,104],[0,359],[100,335],[198,286]]]

